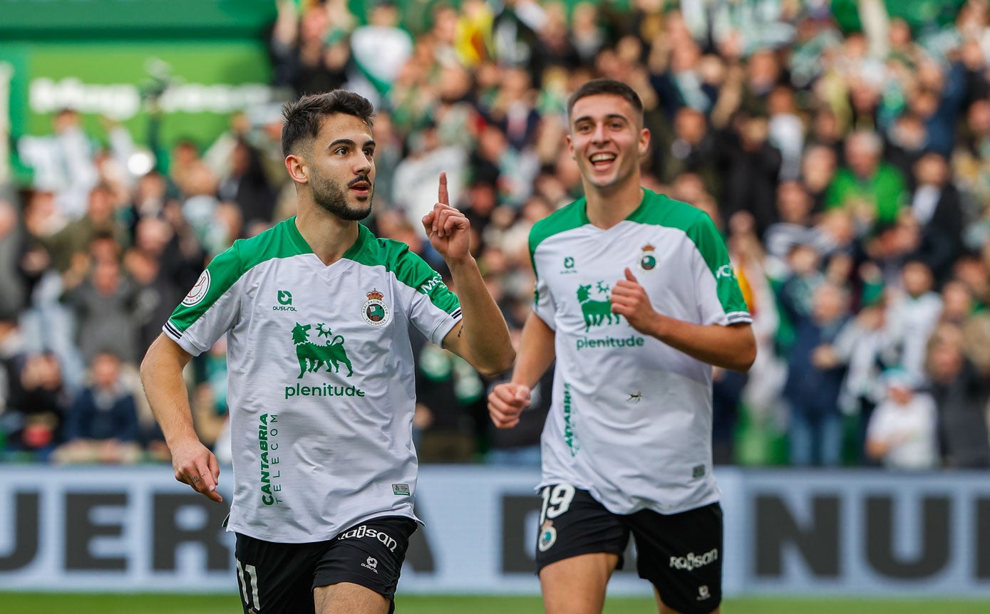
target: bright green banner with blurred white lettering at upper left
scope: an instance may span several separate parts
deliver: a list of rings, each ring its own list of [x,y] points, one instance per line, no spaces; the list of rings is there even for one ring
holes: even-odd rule
[[[104,132],[106,118],[145,143],[155,100],[162,144],[208,145],[232,113],[273,96],[266,51],[253,42],[0,44],[0,65],[15,137],[49,134],[53,114],[72,108],[91,133]]]

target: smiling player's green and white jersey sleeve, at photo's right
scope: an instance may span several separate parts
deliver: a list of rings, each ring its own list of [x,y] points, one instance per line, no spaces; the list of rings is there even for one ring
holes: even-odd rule
[[[698,249],[695,299],[700,322],[724,326],[752,322],[736,271],[729,260],[729,250],[715,223],[707,215],[699,215],[690,234]]]

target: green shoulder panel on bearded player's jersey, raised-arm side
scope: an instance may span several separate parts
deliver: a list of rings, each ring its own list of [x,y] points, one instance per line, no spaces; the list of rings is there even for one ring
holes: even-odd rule
[[[440,273],[410,251],[408,245],[402,241],[376,237],[363,225],[360,232],[359,246],[355,244],[356,249],[348,251],[346,258],[365,266],[385,267],[400,283],[426,295],[434,306],[447,313],[460,307],[457,296],[446,287]]]

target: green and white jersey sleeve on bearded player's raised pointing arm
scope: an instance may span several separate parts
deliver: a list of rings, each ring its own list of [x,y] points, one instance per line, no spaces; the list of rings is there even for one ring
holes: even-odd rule
[[[440,273],[418,254],[405,251],[396,275],[413,289],[408,312],[410,320],[427,339],[442,345],[446,333],[460,321],[460,301],[444,283]]]

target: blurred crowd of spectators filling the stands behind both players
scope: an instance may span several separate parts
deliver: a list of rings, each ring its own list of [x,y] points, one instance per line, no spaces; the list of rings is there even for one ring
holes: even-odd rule
[[[528,231],[580,196],[569,92],[632,85],[644,185],[723,230],[759,354],[716,370],[715,455],[742,465],[990,467],[990,6],[986,0],[628,3],[280,0],[287,96],[344,87],[378,109],[364,222],[438,270],[419,219],[446,171],[518,339]],[[137,365],[209,259],[294,214],[279,105],[182,140],[135,172],[120,126],[66,109],[35,139],[35,185],[0,200],[0,455],[166,460]],[[129,157],[131,156],[131,157]],[[414,339],[424,462],[539,463],[550,374],[520,426],[492,381]],[[188,372],[223,459],[223,343]]]

